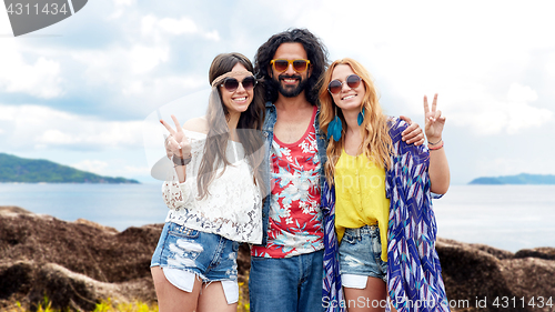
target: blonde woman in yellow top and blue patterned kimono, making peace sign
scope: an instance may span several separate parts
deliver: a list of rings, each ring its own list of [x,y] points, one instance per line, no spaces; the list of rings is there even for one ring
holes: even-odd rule
[[[324,284],[324,308],[448,311],[431,201],[431,192],[450,185],[437,94],[432,110],[424,98],[427,148],[407,145],[401,140],[406,123],[382,112],[362,64],[337,60],[323,80],[320,124],[330,138],[324,266],[335,276]]]

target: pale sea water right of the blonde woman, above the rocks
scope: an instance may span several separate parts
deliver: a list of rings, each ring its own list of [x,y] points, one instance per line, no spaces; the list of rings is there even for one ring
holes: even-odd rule
[[[555,248],[555,185],[452,185],[433,204],[441,238],[513,252]]]

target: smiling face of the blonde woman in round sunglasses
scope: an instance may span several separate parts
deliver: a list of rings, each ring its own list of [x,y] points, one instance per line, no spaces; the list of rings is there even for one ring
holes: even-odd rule
[[[355,74],[355,72],[347,64],[337,64],[333,69],[332,81],[339,80],[340,82],[343,82],[343,84],[341,85],[341,91],[332,94],[332,98],[333,102],[335,102],[335,104],[344,112],[351,110],[360,112],[364,95],[366,94],[366,88],[361,81],[359,87],[351,89],[351,87],[346,83],[346,78],[351,74]]]

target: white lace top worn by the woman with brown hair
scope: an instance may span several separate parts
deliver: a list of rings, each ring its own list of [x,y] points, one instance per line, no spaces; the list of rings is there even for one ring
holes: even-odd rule
[[[231,165],[216,170],[209,184],[209,194],[199,200],[196,175],[204,152],[206,134],[184,130],[191,141],[192,160],[186,165],[186,180],[179,183],[175,170],[162,185],[165,204],[170,208],[165,222],[193,230],[220,234],[238,242],[262,242],[262,199],[254,184],[252,168],[244,158],[243,145],[228,141],[226,155]],[[223,173],[222,173],[223,171]]]

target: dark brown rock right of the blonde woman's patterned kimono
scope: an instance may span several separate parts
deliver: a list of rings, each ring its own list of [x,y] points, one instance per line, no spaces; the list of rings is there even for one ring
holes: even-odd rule
[[[555,311],[554,248],[512,253],[438,239],[436,250],[453,310]]]

